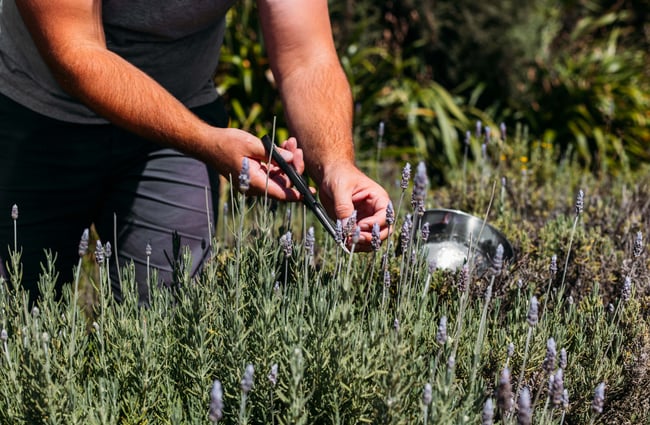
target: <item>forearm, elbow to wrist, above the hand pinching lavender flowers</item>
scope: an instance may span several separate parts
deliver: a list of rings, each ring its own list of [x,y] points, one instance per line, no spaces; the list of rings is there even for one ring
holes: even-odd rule
[[[293,70],[279,87],[310,176],[321,182],[329,167],[354,164],[352,94],[338,61]]]

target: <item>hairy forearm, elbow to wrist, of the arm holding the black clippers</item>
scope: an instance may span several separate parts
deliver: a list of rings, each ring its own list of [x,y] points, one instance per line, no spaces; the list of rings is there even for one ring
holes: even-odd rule
[[[88,46],[60,52],[50,61],[64,90],[99,115],[152,141],[207,158],[209,126],[122,58]]]

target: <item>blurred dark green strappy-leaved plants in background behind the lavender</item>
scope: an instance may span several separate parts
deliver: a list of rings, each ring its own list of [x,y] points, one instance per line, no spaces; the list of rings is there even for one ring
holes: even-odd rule
[[[229,16],[217,74],[233,125],[264,132],[282,108],[254,2]],[[434,182],[476,120],[529,128],[594,172],[650,160],[650,22],[642,0],[330,2],[356,101],[360,162],[425,159]],[[377,146],[379,123],[383,146]]]

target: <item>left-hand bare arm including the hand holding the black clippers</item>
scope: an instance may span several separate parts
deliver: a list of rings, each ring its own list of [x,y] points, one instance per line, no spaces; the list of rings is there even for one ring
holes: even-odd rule
[[[61,87],[99,115],[199,158],[234,180],[244,156],[265,158],[256,137],[208,125],[144,72],[109,51],[101,0],[16,0],[16,4]],[[291,152],[283,154],[293,160]],[[300,168],[301,161],[296,165]],[[263,188],[264,171],[252,167],[251,172],[251,184]],[[297,195],[286,190],[284,180],[278,187],[270,186],[269,193],[290,199]]]

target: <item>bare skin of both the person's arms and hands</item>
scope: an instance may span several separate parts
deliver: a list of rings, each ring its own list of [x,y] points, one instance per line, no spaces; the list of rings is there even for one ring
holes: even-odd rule
[[[249,158],[251,194],[297,201],[284,173],[266,164],[261,141],[235,128],[198,119],[145,73],[106,48],[100,0],[16,0],[42,56],[61,87],[99,115],[140,136],[176,148],[237,181]],[[373,223],[382,239],[389,198],[355,165],[352,95],[332,40],[327,0],[258,0],[265,44],[294,137],[280,149],[305,169],[328,212],[356,210],[358,249],[368,249]]]

